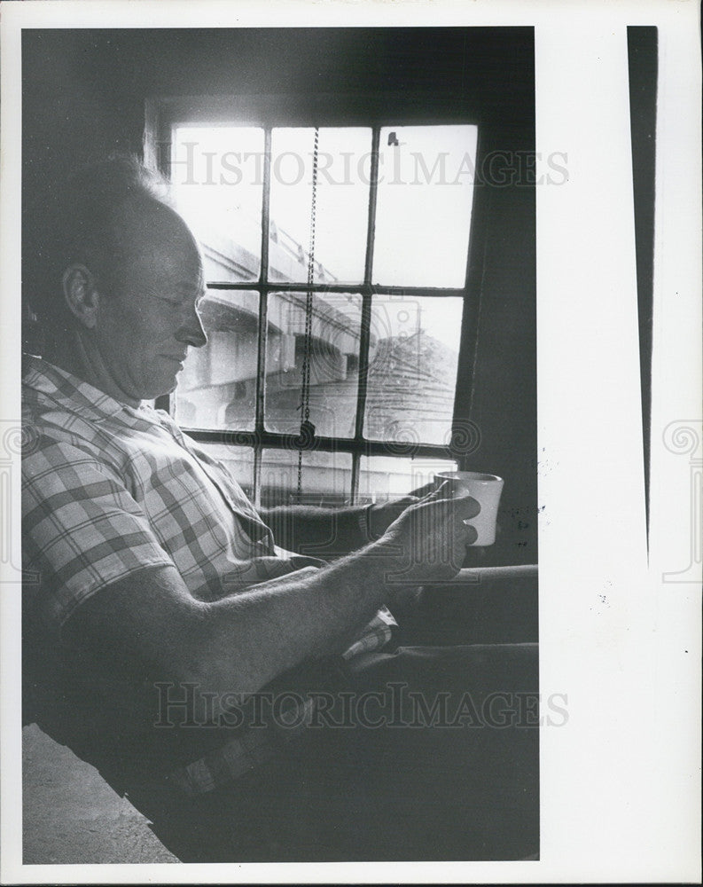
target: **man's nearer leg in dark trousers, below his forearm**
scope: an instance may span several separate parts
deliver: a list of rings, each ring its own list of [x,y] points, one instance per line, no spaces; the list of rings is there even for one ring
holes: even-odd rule
[[[130,798],[183,860],[535,852],[535,646],[398,648],[351,663],[339,689],[316,725],[230,788]]]

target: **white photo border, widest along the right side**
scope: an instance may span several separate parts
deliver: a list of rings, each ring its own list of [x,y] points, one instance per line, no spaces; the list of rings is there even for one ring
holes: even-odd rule
[[[2,4],[2,417],[20,416],[22,28],[535,27],[536,150],[566,153],[569,173],[566,184],[538,187],[536,195],[541,691],[543,698],[566,694],[569,715],[562,728],[542,732],[541,859],[23,866],[20,585],[13,567],[20,496],[11,454],[2,519],[15,532],[9,560],[0,564],[3,883],[699,880],[699,5],[417,0],[400,7],[372,0]],[[654,26],[659,35],[649,550],[629,25]],[[695,435],[698,450],[689,451],[686,442]]]

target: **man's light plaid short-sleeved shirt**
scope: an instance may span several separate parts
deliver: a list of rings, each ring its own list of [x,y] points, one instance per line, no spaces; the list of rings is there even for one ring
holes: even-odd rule
[[[176,566],[194,598],[216,600],[322,565],[278,548],[227,469],[165,412],[120,404],[28,357],[23,426],[23,562],[41,576],[26,593],[33,617],[57,642],[85,600],[146,567]],[[345,658],[382,647],[394,625],[380,610]],[[218,760],[212,772],[224,768],[231,777],[242,760],[248,767],[265,757],[250,753],[248,739],[232,742],[223,760],[238,765]],[[213,788],[208,773],[191,790]]]

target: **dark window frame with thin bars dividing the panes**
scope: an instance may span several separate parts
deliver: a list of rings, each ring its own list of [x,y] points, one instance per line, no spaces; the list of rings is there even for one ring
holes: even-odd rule
[[[480,169],[482,147],[487,141],[488,126],[476,115],[459,110],[459,97],[434,93],[394,93],[383,96],[349,93],[316,93],[265,96],[208,96],[208,97],[159,97],[145,103],[145,163],[159,169],[169,177],[172,129],[180,125],[223,125],[261,127],[264,130],[264,158],[262,169],[262,250],[258,279],[210,284],[214,290],[249,290],[258,293],[259,313],[257,331],[256,388],[254,396],[254,430],[184,428],[199,443],[223,443],[244,447],[254,452],[253,498],[261,504],[262,453],[265,449],[291,449],[291,436],[272,432],[265,428],[264,399],[266,388],[266,344],[268,339],[268,297],[273,293],[295,292],[357,294],[362,298],[361,336],[359,343],[358,384],[356,389],[356,414],[354,436],[316,436],[311,449],[328,452],[348,452],[352,459],[350,502],[358,501],[361,459],[363,456],[394,456],[420,459],[453,459],[458,467],[467,467],[470,453],[466,451],[466,429],[471,426],[474,365],[477,352],[482,275],[486,251],[485,232],[490,205],[490,188],[473,187],[473,206],[469,230],[465,279],[463,287],[397,287],[371,282],[375,216],[378,192],[379,136],[388,126],[468,124],[478,128],[476,169]],[[371,128],[371,174],[369,188],[368,225],[363,282],[348,284],[313,284],[307,282],[282,282],[268,280],[269,271],[269,199],[271,165],[271,130],[278,127],[344,127]],[[363,436],[363,419],[366,404],[367,372],[371,330],[371,302],[374,295],[394,295],[432,298],[460,297],[463,302],[462,326],[459,338],[457,381],[454,392],[454,409],[451,434],[446,444],[402,443],[399,441],[370,440]],[[173,414],[175,397],[166,395],[156,401],[156,406]]]

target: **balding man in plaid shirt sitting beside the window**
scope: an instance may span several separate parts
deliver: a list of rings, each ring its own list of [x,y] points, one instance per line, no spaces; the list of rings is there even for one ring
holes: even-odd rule
[[[207,341],[199,248],[158,189],[134,161],[82,170],[33,269],[36,720],[183,860],[534,853],[536,731],[516,703],[537,690],[534,646],[397,647],[387,609],[457,574],[478,503],[440,491],[371,514],[297,508],[296,538],[333,526],[356,550],[324,563],[279,548],[262,517],[280,514],[258,514],[144,404]]]

